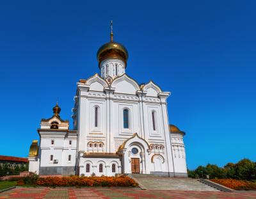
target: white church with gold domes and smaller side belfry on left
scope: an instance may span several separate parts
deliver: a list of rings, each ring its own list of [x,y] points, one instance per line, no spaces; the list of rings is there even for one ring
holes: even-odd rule
[[[42,119],[29,149],[29,171],[39,175],[114,176],[120,173],[187,177],[185,133],[169,125],[163,92],[125,73],[128,52],[111,41],[97,52],[100,75],[80,79],[73,129],[54,115]]]

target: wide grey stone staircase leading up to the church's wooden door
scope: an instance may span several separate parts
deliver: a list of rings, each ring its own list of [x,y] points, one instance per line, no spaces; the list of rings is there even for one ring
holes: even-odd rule
[[[152,174],[131,174],[141,189],[180,191],[220,191],[198,179],[161,177]]]

